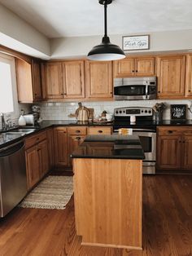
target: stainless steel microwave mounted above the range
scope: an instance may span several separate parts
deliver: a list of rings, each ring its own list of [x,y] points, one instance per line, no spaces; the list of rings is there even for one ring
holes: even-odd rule
[[[156,99],[156,77],[127,77],[114,79],[114,98]]]

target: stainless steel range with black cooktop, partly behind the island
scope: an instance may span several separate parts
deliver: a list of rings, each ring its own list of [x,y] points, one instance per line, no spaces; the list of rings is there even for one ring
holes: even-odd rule
[[[156,162],[156,125],[153,121],[152,108],[115,108],[113,132],[122,128],[132,129],[133,135],[138,135],[145,153],[143,173],[155,174]]]

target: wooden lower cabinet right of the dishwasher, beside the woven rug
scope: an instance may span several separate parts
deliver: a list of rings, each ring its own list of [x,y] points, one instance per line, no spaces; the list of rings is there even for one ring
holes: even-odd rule
[[[25,159],[28,189],[30,189],[49,170],[46,131],[25,139]]]

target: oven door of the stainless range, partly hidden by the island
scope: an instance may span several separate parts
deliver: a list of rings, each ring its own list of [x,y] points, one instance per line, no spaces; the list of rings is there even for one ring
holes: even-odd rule
[[[141,141],[145,153],[145,161],[156,161],[156,131],[146,129],[133,129],[133,135],[137,135]]]

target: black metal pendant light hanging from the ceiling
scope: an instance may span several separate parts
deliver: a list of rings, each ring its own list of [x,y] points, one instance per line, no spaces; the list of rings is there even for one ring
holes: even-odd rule
[[[98,2],[104,5],[105,34],[102,43],[98,46],[94,46],[94,48],[89,51],[87,59],[100,61],[124,59],[124,51],[122,51],[119,46],[112,44],[107,36],[107,5],[110,4],[112,0],[99,0]]]

